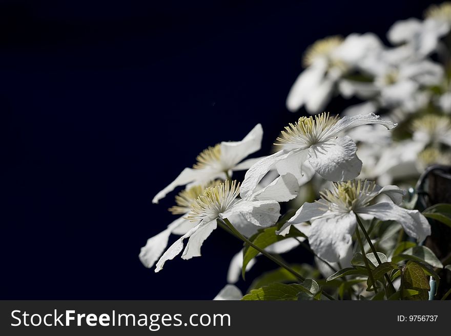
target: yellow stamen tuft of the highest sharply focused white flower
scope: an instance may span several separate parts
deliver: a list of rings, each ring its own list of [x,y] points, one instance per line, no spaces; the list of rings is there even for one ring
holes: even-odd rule
[[[295,124],[289,124],[281,132],[274,145],[296,145],[296,147],[310,147],[322,140],[327,131],[338,121],[338,116],[330,117],[323,112],[315,117],[300,117]]]

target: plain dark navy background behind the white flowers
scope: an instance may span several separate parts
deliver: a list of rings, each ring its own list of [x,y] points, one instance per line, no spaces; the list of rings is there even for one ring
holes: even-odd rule
[[[1,299],[213,298],[240,242],[216,230],[154,274],[139,249],[175,217],[174,193],[152,197],[257,123],[268,153],[309,44],[384,37],[429,4],[161,3],[0,3]]]

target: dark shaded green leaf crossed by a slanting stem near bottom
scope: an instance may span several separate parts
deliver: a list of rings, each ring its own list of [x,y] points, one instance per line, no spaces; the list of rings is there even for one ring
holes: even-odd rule
[[[309,264],[292,264],[291,268],[293,268],[295,272],[299,273],[304,278],[317,278],[319,276],[319,271]],[[263,273],[251,283],[249,290],[267,286],[274,282],[292,283],[296,281],[297,278],[293,274],[285,270],[285,268],[280,267],[277,268],[277,270]]]

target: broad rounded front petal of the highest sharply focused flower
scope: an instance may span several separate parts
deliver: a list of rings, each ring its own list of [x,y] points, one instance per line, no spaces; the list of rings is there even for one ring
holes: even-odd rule
[[[309,163],[326,180],[351,180],[362,169],[356,150],[356,144],[348,136],[332,139],[310,147]]]

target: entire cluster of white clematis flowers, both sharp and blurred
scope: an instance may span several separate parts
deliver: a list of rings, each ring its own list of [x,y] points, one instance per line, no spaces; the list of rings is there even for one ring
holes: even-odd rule
[[[351,264],[358,224],[366,234],[362,221],[398,223],[421,243],[430,235],[428,221],[403,207],[405,192],[391,184],[413,186],[427,166],[451,164],[451,46],[442,40],[450,29],[451,3],[445,3],[428,9],[424,20],[395,23],[387,34],[394,47],[371,33],[315,42],[286,100],[290,111],[304,107],[314,116],[296,118],[281,130],[276,151],[268,156],[244,160],[261,147],[260,124],[241,141],[202,151],[192,168],[154,197],[158,203],[186,186],[169,209],[181,216],[147,241],[142,263],[156,264],[159,272],[182,250],[182,259],[200,256],[203,241],[218,225],[248,244],[257,232],[277,226],[274,235],[280,239],[258,251],[279,254],[308,242],[325,276]],[[340,117],[322,112],[337,94],[362,102]],[[241,184],[232,180],[237,170],[246,170]],[[281,221],[284,208],[297,211]],[[291,230],[299,235],[291,236]],[[167,248],[171,234],[181,237]],[[245,264],[247,270],[254,262]],[[238,280],[242,267],[239,251],[229,283]],[[229,284],[215,299],[240,297]]]

